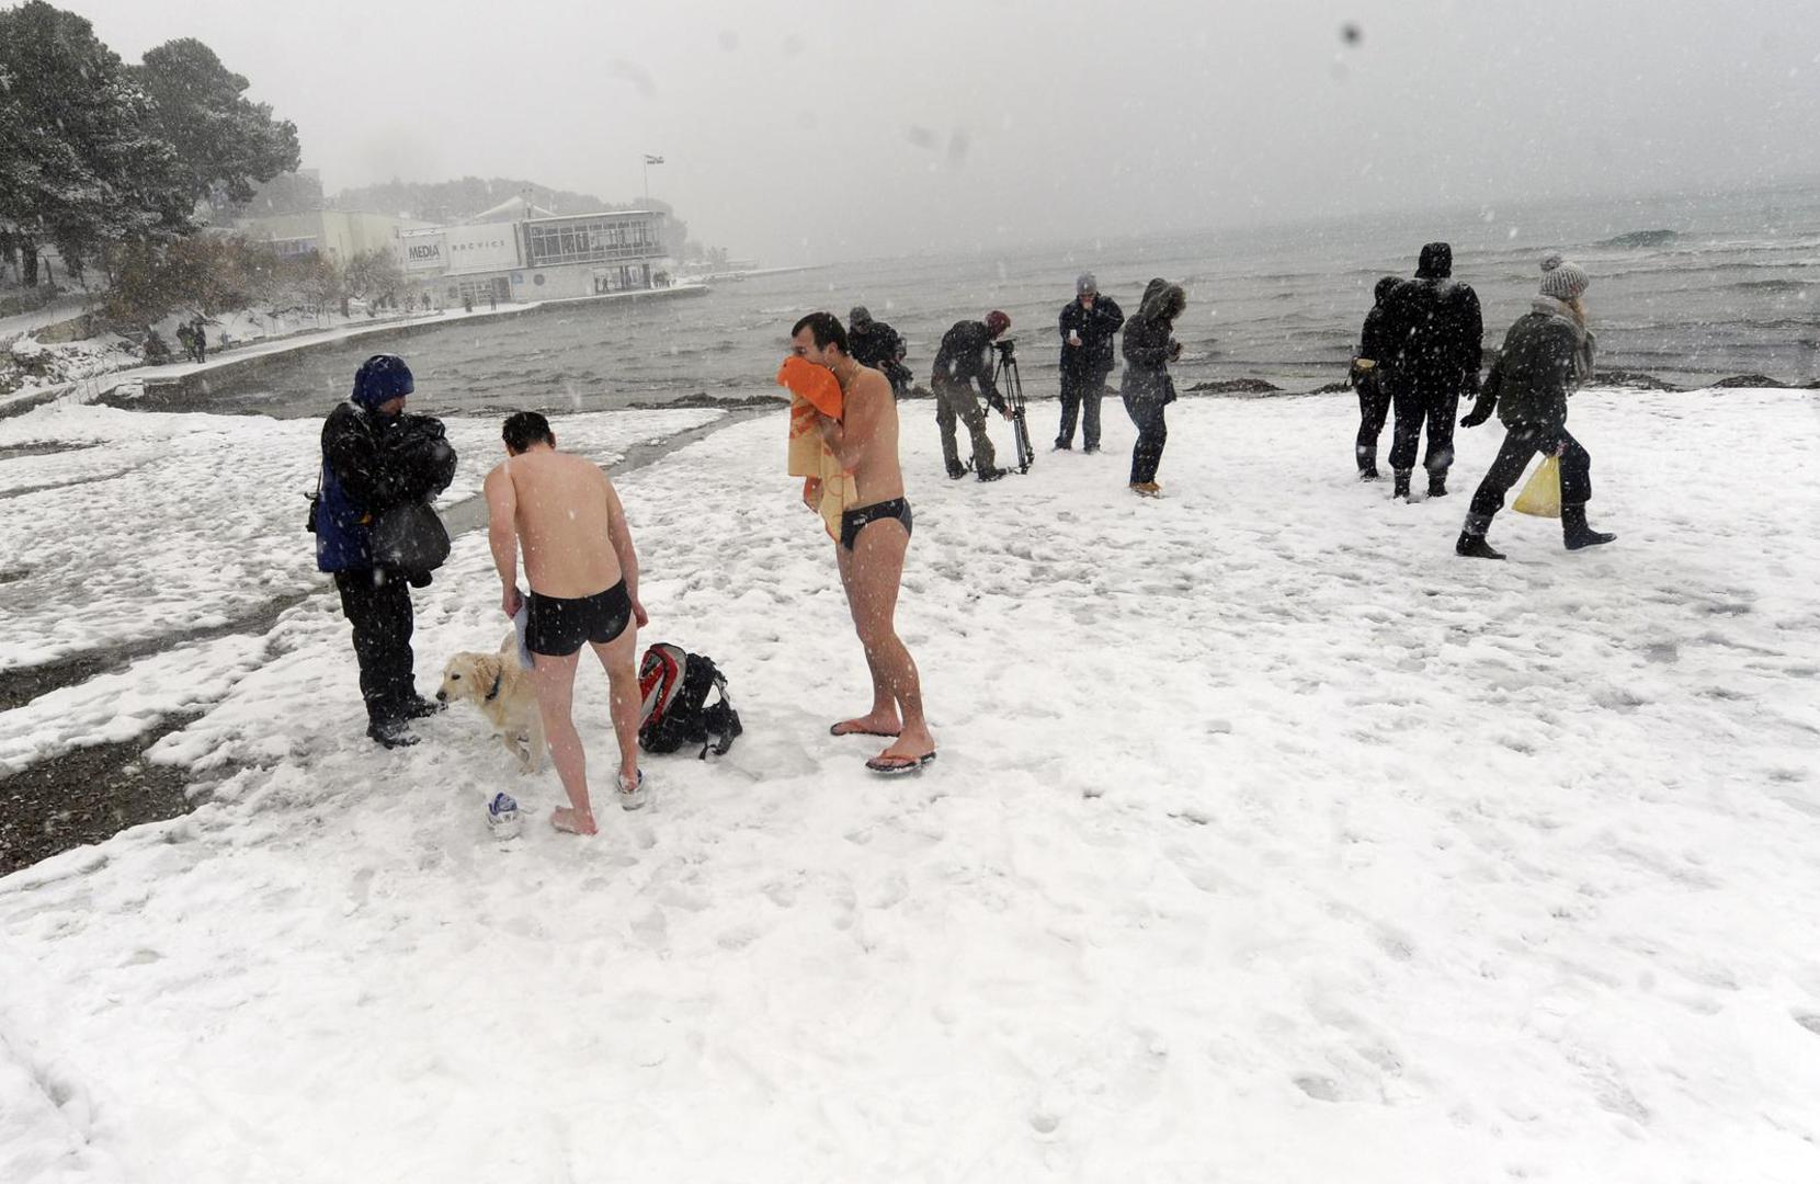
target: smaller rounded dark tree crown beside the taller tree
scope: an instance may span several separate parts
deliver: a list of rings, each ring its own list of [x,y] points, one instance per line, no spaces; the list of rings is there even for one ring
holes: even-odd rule
[[[153,125],[177,149],[193,200],[242,204],[257,182],[297,167],[297,124],[249,102],[248,80],[195,38],[146,51],[131,76],[151,98]]]

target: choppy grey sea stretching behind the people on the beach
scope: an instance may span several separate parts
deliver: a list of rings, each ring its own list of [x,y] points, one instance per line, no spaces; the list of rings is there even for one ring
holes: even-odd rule
[[[1622,246],[1634,231],[1671,231]],[[1263,378],[1309,391],[1345,376],[1380,275],[1409,275],[1429,238],[1456,247],[1454,275],[1485,306],[1485,344],[1536,291],[1536,260],[1567,249],[1594,275],[1587,293],[1600,367],[1698,386],[1742,373],[1820,378],[1820,195],[1773,189],[1731,198],[1576,202],[1454,215],[1389,215],[1276,231],[1152,235],[1088,247],[1037,246],[839,264],[721,282],[706,296],[571,306],[466,322],[397,342],[424,409],[537,406],[553,411],[662,402],[681,395],[774,393],[790,324],[854,304],[895,326],[928,382],[941,333],[988,307],[1012,315],[1032,398],[1056,393],[1056,315],[1074,276],[1134,309],[1152,275],[1179,278],[1188,311],[1176,367],[1196,382]],[[1607,246],[1600,246],[1607,244]],[[371,344],[297,356],[217,384],[207,407],[320,415],[348,395]]]

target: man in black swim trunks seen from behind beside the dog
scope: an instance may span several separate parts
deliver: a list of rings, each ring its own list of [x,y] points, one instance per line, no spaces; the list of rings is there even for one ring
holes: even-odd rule
[[[571,711],[575,662],[582,642],[606,669],[613,735],[619,740],[619,806],[644,806],[639,771],[639,555],[613,482],[597,464],[557,451],[550,420],[519,411],[502,431],[506,460],[486,475],[488,544],[499,571],[500,609],[517,617],[519,549],[531,587],[524,644],[533,658],[531,686],[544,722],[550,760],[570,804],[551,826],[593,835],[599,824],[588,797],[588,755]]]

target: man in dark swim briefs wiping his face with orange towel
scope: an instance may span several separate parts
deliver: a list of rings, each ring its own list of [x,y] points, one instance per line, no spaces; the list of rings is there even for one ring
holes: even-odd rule
[[[905,551],[910,547],[910,504],[897,460],[897,402],[875,369],[848,353],[846,331],[832,313],[810,313],[790,331],[790,349],[814,366],[828,367],[841,384],[841,418],[821,416],[821,436],[835,460],[852,473],[855,506],[841,515],[841,538],[834,558],[854,617],[854,631],[866,649],[872,673],[872,709],[841,720],[837,737],[895,737],[866,762],[874,773],[915,773],[935,760],[935,737],[923,717],[923,680],[915,660],[897,637],[897,591]],[[806,489],[804,502],[819,513],[819,493]]]

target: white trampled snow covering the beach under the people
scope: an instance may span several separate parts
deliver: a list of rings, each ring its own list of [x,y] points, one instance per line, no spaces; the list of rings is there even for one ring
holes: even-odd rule
[[[5,758],[182,704],[151,758],[228,773],[0,880],[0,1179],[1820,1175],[1811,395],[1576,396],[1620,542],[1502,515],[1507,564],[1451,553],[1491,427],[1396,506],[1350,480],[1350,398],[1185,400],[1150,504],[1116,406],[1108,455],[992,487],[937,480],[925,407],[919,778],[826,737],[864,680],[781,416],[621,482],[644,640],[715,657],[748,731],[653,758],[595,840],[464,709],[377,753],[329,597],[0,715]],[[495,426],[455,424],[471,489]],[[677,424],[555,426],[606,458]],[[306,586],[313,431],[0,424],[96,444],[0,469],[96,504],[9,502],[0,567],[67,598],[9,606],[7,658]],[[502,629],[468,535],[419,686]]]

